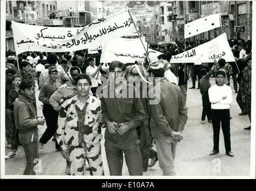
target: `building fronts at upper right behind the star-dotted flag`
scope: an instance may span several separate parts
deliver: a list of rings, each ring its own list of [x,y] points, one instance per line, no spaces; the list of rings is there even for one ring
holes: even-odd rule
[[[184,40],[184,24],[190,21],[220,13],[221,27],[193,36],[188,40],[214,39],[225,32],[227,38],[251,39],[252,1],[172,1],[173,38]],[[235,26],[245,30],[236,32]]]

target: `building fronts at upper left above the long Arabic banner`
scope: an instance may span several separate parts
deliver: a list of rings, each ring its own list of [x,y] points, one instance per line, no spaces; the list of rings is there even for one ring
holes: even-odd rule
[[[72,16],[70,15],[72,9]],[[50,19],[51,14],[56,15]],[[7,50],[14,50],[11,21],[51,27],[81,27],[91,22],[89,1],[6,1]]]

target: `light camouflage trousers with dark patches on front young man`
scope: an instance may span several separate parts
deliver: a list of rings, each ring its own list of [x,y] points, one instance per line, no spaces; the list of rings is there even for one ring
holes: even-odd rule
[[[86,160],[89,162],[90,175],[104,175],[100,143],[86,144],[84,148],[71,146],[69,155],[71,175],[84,175]]]

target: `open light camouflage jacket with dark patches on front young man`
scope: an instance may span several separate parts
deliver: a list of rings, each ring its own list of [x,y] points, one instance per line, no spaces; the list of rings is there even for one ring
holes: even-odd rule
[[[60,107],[57,129],[57,142],[63,150],[69,146],[79,146],[78,115],[75,109],[78,95],[66,100]],[[89,95],[86,102],[86,117],[84,118],[84,142],[96,144],[102,140],[101,127],[97,122],[97,115],[101,112],[100,100]]]

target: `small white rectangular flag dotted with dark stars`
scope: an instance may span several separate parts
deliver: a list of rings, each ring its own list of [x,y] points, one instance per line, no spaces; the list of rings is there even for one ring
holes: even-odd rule
[[[211,16],[197,19],[185,24],[184,38],[190,38],[217,27],[221,27],[220,14],[212,14]]]

